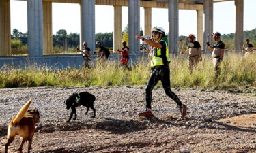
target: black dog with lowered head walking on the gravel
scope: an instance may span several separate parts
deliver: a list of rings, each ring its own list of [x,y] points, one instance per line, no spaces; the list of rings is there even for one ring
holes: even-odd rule
[[[94,118],[96,114],[96,110],[94,108],[95,99],[96,99],[95,96],[88,92],[73,93],[65,101],[65,104],[67,105],[67,109],[70,109],[71,107],[71,110],[72,110],[70,114],[70,118],[68,118],[66,122],[70,122],[73,114],[74,114],[73,120],[76,120],[76,116],[77,116],[76,107],[79,107],[80,105],[87,107],[87,111],[85,112],[85,115],[88,113],[89,108],[91,108],[94,111],[94,115],[91,117]]]

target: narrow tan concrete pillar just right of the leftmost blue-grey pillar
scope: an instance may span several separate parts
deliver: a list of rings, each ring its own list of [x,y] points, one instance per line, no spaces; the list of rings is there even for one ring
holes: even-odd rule
[[[52,2],[43,1],[44,54],[53,54]]]

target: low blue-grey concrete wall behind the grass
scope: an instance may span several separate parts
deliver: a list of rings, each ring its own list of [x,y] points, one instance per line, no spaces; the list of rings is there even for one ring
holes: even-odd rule
[[[136,63],[138,58],[147,60],[147,53],[144,54],[130,54],[129,64]],[[100,56],[92,55],[89,65],[95,65],[96,61],[100,60]],[[109,61],[119,63],[120,55],[110,54]],[[108,61],[106,61],[107,63]],[[51,69],[66,69],[67,67],[83,67],[83,58],[81,54],[72,55],[51,55],[43,57],[28,58],[27,56],[15,56],[0,58],[0,68],[3,65],[25,68],[29,65],[37,65],[38,67],[50,67]]]

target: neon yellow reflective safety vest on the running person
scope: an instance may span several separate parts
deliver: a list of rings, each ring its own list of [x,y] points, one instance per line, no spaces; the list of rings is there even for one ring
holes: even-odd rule
[[[161,40],[164,41],[164,40]],[[165,41],[164,41],[165,42]],[[165,52],[165,56],[167,58],[168,63],[171,61],[171,58],[169,58],[169,50],[168,50],[168,45],[165,42],[165,46],[166,46],[166,52]],[[155,67],[155,66],[160,66],[160,65],[164,65],[162,58],[160,57],[161,55],[161,48],[157,48],[156,50],[156,54],[152,54],[152,58],[151,58],[151,63],[150,66],[151,67]]]

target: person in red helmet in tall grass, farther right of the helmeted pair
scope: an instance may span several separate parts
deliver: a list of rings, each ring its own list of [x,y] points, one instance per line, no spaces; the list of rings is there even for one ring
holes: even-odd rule
[[[212,37],[216,41],[214,46],[210,46],[209,41],[206,42],[209,50],[212,51],[213,63],[214,63],[214,81],[218,78],[221,73],[221,61],[223,61],[225,44],[221,41],[221,33],[212,33]]]

